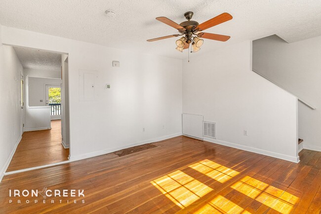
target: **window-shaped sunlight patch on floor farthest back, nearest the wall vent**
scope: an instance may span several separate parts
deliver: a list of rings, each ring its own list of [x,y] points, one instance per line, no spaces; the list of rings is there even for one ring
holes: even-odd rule
[[[224,183],[225,181],[239,174],[239,172],[235,170],[222,166],[208,159],[199,161],[190,165],[189,167],[221,183]]]

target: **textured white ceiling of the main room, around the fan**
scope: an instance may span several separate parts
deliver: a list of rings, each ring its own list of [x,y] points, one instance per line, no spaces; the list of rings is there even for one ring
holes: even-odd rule
[[[115,10],[116,17],[107,17],[106,9]],[[321,0],[1,0],[0,23],[139,53],[186,58],[186,51],[175,50],[176,38],[146,41],[178,33],[156,17],[181,23],[186,11],[193,11],[193,20],[199,23],[222,12],[233,16],[204,31],[229,35],[229,41],[206,39],[194,54],[274,34],[288,42],[321,35]]]

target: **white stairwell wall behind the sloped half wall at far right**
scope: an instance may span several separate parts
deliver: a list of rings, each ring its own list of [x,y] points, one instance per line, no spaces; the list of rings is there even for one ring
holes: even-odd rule
[[[299,138],[321,151],[321,36],[287,43],[278,36],[253,41],[253,70],[276,82],[299,103]]]

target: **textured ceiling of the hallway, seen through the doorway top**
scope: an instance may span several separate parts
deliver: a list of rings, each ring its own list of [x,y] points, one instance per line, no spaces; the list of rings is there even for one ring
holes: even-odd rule
[[[25,69],[61,71],[61,54],[23,47],[14,50]]]

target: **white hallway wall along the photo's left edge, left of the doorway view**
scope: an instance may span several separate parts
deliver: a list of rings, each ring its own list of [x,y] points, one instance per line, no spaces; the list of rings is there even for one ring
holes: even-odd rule
[[[0,180],[10,154],[21,137],[20,75],[23,73],[14,49],[0,37]]]

